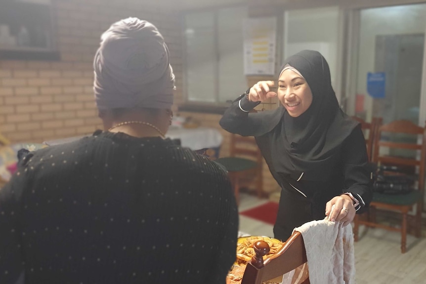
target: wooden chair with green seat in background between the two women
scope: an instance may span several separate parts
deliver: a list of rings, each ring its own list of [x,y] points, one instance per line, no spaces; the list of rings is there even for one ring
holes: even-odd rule
[[[215,161],[221,163],[228,170],[237,202],[240,188],[244,186],[254,184],[257,195],[262,196],[263,158],[254,137],[231,134],[230,157],[219,158]]]

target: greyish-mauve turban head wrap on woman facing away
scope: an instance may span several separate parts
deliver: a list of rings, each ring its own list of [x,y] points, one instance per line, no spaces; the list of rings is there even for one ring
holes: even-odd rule
[[[173,104],[169,49],[147,21],[128,18],[114,23],[102,34],[93,65],[99,110],[166,109]]]

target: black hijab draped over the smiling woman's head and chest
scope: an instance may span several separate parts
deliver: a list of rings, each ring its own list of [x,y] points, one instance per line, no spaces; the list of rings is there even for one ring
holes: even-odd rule
[[[302,50],[290,56],[281,70],[286,65],[305,78],[312,91],[312,104],[297,118],[283,111],[282,123],[270,137],[273,168],[295,180],[329,180],[339,166],[342,142],[358,123],[341,111],[329,66],[318,51]]]

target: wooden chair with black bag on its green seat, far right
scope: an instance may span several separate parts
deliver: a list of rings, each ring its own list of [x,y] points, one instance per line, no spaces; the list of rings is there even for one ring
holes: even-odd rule
[[[411,134],[414,136],[415,142],[391,142],[381,140],[383,133],[404,133],[405,135]],[[422,142],[418,143],[418,138],[422,136]],[[378,227],[390,231],[401,232],[401,252],[406,251],[407,227],[408,221],[411,221],[412,227],[416,237],[421,236],[421,222],[422,222],[422,206],[423,194],[425,187],[425,162],[426,162],[426,128],[420,127],[413,122],[400,120],[384,124],[378,128],[375,135],[374,151],[372,161],[383,165],[396,165],[402,167],[411,167],[413,172],[418,168],[417,189],[408,194],[389,195],[375,192],[373,201],[370,204],[369,211],[375,211],[376,208],[385,211],[396,211],[402,214],[401,228],[390,227],[385,224],[376,223],[375,214],[368,216],[365,220],[361,220],[359,215],[354,219],[354,239],[358,241],[359,225],[366,225],[367,227]],[[420,151],[420,157],[405,158],[397,156],[389,156],[381,154],[382,148],[388,149],[411,149]],[[416,205],[415,215],[408,215],[408,212]],[[367,212],[368,213],[368,212]]]

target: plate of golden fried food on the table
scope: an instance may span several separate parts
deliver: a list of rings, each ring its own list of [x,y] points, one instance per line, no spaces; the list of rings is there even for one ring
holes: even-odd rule
[[[275,254],[282,246],[283,242],[277,239],[268,237],[250,236],[239,238],[237,242],[237,260],[235,261],[232,270],[229,272],[226,283],[240,284],[243,279],[244,271],[246,270],[247,262],[255,255],[254,243],[264,241],[269,245],[270,251],[263,256],[263,259]]]

